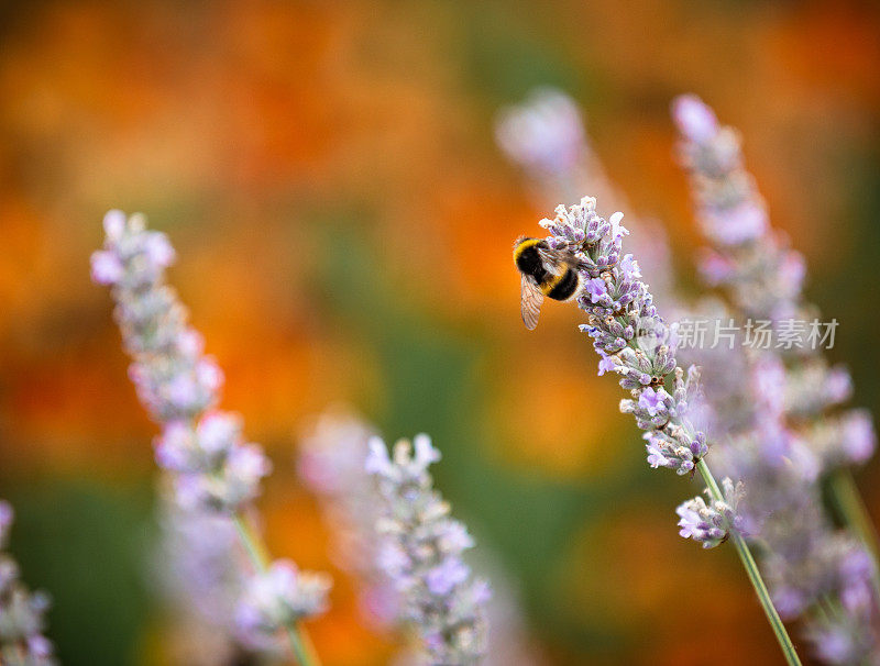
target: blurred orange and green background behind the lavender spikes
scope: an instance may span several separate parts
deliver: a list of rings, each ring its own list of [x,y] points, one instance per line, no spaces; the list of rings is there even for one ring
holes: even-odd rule
[[[172,663],[147,575],[156,428],[89,281],[109,208],[146,213],[178,251],[172,280],[227,375],[222,404],[275,463],[261,500],[275,554],[332,570],[294,459],[304,420],[344,402],[388,439],[433,436],[438,486],[516,581],[549,664],[778,662],[733,550],[676,535],[694,488],[645,464],[578,311],[520,322],[512,242],[551,211],[492,124],[536,85],[582,104],[634,213],[667,225],[685,286],[700,241],[669,102],[696,92],[738,126],[774,223],[807,256],[810,298],[840,321],[829,354],[880,412],[878,11],[3,2],[0,497],[24,577],[54,597],[63,663]],[[880,515],[880,465],[859,482]],[[324,664],[384,664],[393,646],[334,577],[311,626]]]

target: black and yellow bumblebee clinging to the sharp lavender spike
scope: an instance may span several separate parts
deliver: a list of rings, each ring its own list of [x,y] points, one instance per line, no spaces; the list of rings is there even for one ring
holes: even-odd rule
[[[581,289],[578,258],[571,251],[551,248],[543,238],[519,236],[514,263],[522,274],[522,322],[529,331],[538,325],[543,297],[568,301]]]

